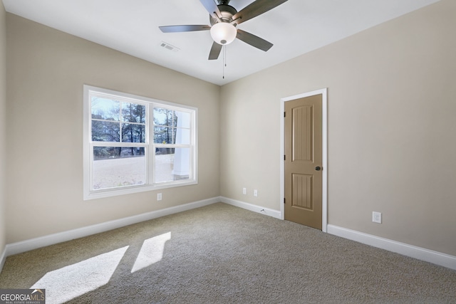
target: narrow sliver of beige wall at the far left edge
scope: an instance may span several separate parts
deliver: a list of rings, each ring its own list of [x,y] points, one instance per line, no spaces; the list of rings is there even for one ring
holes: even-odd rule
[[[6,245],[6,13],[0,1],[0,257]],[[1,261],[0,261],[1,263]],[[0,267],[1,268],[1,267]]]

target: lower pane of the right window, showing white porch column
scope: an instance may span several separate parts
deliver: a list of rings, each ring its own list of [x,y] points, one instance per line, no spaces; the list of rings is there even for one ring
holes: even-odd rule
[[[155,182],[172,182],[190,177],[189,148],[157,148],[155,151]]]

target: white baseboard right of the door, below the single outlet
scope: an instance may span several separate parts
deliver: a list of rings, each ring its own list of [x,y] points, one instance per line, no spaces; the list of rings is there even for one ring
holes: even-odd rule
[[[342,228],[339,226],[328,225],[328,234],[341,236],[344,239],[350,239],[366,245],[382,248],[395,253],[400,253],[404,256],[418,258],[418,260],[434,263],[440,266],[456,270],[456,256],[450,256],[446,253],[432,251],[426,248],[412,246],[407,243],[400,243],[390,239],[383,239],[379,236],[364,234],[359,231]]]

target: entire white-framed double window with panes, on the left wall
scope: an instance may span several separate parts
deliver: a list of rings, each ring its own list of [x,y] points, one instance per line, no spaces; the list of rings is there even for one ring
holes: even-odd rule
[[[84,85],[84,199],[197,184],[197,109]]]

